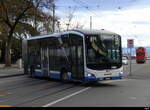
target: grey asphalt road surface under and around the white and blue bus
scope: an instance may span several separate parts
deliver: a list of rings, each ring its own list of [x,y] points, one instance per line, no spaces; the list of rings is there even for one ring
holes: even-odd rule
[[[132,62],[132,75],[97,84],[63,83],[17,76],[0,79],[0,107],[147,107],[150,63]],[[124,65],[128,75],[129,65]]]

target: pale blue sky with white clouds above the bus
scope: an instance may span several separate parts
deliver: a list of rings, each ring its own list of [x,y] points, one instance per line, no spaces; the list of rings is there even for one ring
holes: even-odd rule
[[[73,13],[72,24],[84,29],[106,29],[122,36],[122,46],[134,39],[134,46],[150,46],[150,0],[55,0],[56,16],[65,26]]]

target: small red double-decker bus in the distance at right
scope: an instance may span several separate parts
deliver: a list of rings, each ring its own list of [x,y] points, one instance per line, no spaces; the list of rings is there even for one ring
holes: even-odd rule
[[[146,62],[146,48],[138,47],[136,49],[136,62],[145,63]]]

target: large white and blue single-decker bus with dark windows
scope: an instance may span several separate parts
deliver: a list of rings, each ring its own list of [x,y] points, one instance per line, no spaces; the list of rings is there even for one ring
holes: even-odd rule
[[[31,77],[98,82],[123,79],[121,36],[106,30],[70,30],[23,41]]]

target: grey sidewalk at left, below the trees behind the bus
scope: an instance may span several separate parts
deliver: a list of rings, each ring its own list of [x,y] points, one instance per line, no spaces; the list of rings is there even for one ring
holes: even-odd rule
[[[0,64],[0,78],[20,75],[24,75],[23,68],[20,69],[17,65],[12,65],[11,67],[4,68],[4,64]]]

